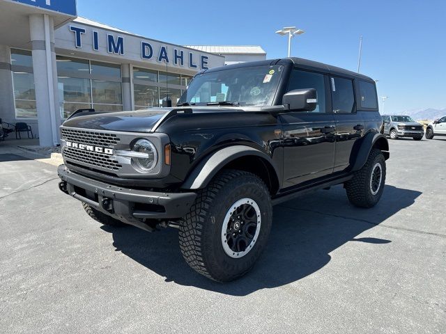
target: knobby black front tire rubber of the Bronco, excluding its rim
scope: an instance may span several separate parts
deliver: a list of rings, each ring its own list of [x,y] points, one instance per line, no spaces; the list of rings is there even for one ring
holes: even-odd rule
[[[242,198],[252,198],[256,202],[261,224],[255,244],[248,253],[233,258],[223,248],[222,227],[232,205]],[[266,247],[271,223],[272,205],[266,184],[252,173],[223,170],[198,192],[194,205],[180,225],[180,250],[187,264],[201,275],[229,282],[252,269]]]

